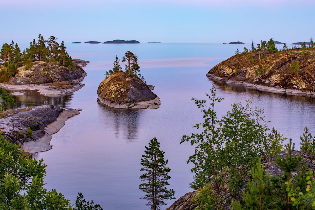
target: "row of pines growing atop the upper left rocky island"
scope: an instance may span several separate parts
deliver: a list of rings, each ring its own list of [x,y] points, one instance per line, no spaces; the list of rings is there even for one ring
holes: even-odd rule
[[[33,39],[30,46],[23,49],[14,41],[10,44],[4,43],[0,52],[0,82],[6,82],[9,78],[14,77],[17,73],[17,68],[25,65],[25,69],[29,70],[32,67],[32,62],[44,61],[51,65],[61,65],[74,71],[74,64],[71,56],[66,52],[66,46],[62,41],[57,42],[57,38],[50,36],[45,40],[41,34],[38,35],[36,42]]]

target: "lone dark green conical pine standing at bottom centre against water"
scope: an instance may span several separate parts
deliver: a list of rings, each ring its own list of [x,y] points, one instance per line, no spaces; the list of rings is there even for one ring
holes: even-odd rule
[[[141,181],[146,182],[139,185],[139,189],[146,193],[140,199],[148,200],[146,206],[152,210],[159,210],[160,205],[166,205],[164,200],[175,199],[175,191],[168,190],[165,186],[169,185],[171,178],[168,173],[171,170],[166,167],[168,160],[164,160],[164,153],[160,150],[160,143],[156,138],[151,139],[149,146],[145,146],[145,155],[141,158],[141,171],[145,173],[140,176]]]

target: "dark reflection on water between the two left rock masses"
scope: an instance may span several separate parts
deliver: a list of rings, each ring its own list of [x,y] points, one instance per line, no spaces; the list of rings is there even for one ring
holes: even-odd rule
[[[65,95],[41,95],[36,90],[19,90],[19,91],[13,91],[8,90],[8,92],[22,92],[24,95],[16,95],[14,96],[14,103],[7,105],[8,109],[13,109],[16,107],[28,107],[28,106],[39,106],[39,105],[54,105],[59,106],[62,108],[66,108],[69,103],[72,101],[72,95],[65,94]]]

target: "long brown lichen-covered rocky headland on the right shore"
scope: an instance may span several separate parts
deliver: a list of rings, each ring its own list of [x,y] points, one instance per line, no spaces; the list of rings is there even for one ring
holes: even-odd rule
[[[222,61],[207,76],[268,92],[315,95],[315,55],[301,49],[256,50]]]

